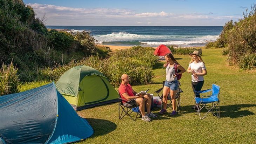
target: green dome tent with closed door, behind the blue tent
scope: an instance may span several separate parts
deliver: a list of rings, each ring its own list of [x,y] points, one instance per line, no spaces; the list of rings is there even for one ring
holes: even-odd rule
[[[88,66],[66,71],[56,82],[56,88],[76,111],[118,101],[118,93],[107,77]]]

